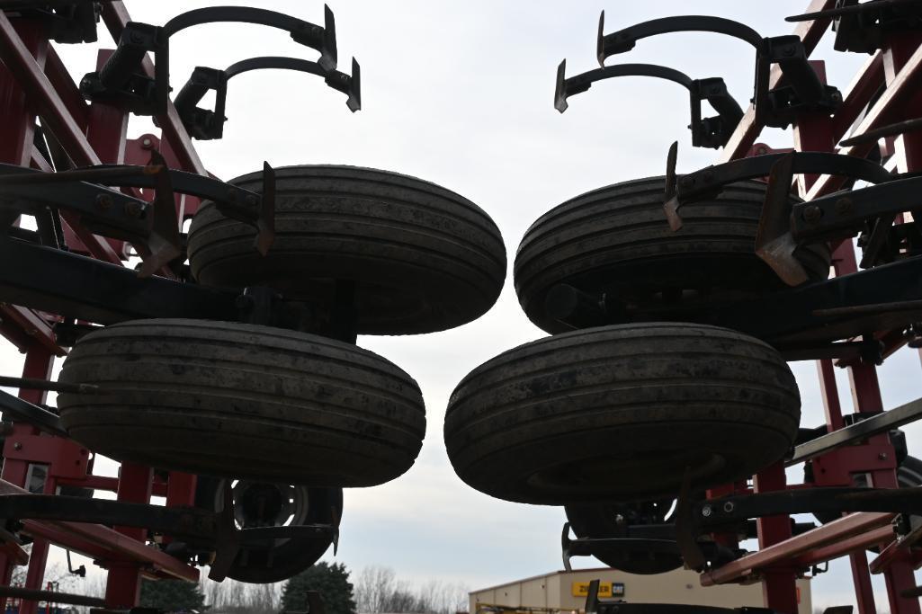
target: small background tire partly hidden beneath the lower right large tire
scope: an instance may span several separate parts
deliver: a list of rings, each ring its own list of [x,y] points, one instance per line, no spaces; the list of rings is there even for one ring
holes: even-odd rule
[[[657,510],[668,512],[668,501],[656,502]],[[643,509],[638,509],[638,507]],[[626,525],[633,524],[659,524],[665,521],[661,514],[649,514],[649,506],[641,504],[609,504],[609,505],[567,505],[564,512],[567,521],[576,537],[608,538],[627,537],[626,530],[616,522],[618,515],[624,519]],[[672,551],[654,549],[624,549],[609,545],[597,545],[592,549],[592,556],[596,557],[612,569],[625,573],[650,575],[654,573],[667,573],[682,566],[682,557],[679,545]]]

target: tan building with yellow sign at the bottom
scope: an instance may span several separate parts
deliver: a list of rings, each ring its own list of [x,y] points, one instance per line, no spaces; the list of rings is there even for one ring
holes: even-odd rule
[[[679,603],[720,608],[762,608],[762,584],[721,584],[704,587],[699,574],[676,570],[656,575],[634,575],[609,568],[553,572],[525,580],[481,588],[468,595],[470,614],[507,608],[539,613],[579,613],[585,608],[589,583],[600,580],[599,596],[629,603]],[[810,614],[810,581],[798,580],[798,614]],[[500,606],[502,608],[491,608]]]

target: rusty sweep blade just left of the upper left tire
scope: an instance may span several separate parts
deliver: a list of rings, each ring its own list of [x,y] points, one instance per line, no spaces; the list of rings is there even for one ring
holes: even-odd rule
[[[150,164],[145,168],[153,171],[154,200],[153,219],[150,222],[148,250],[139,272],[140,277],[150,277],[161,267],[167,266],[183,254],[179,238],[179,221],[176,218],[176,196],[173,193],[170,171],[159,151],[150,152]]]

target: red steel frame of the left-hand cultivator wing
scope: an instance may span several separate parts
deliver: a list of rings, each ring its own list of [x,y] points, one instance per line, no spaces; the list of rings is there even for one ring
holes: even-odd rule
[[[103,3],[102,18],[117,41],[129,21],[121,2]],[[0,11],[0,162],[32,166],[51,171],[50,160],[33,147],[36,118],[53,134],[77,165],[100,163],[143,164],[150,149],[159,149],[172,168],[207,174],[205,167],[175,108],[170,104],[159,117],[162,140],[142,136],[127,140],[129,114],[117,106],[88,104],[45,35],[41,24],[29,20],[11,21]],[[99,63],[111,51],[100,51]],[[145,70],[153,75],[148,60]],[[180,218],[195,212],[197,200],[177,197]],[[77,216],[64,215],[65,238],[74,251],[121,264],[124,243],[93,235]],[[165,272],[164,272],[165,273]],[[23,377],[49,379],[53,360],[65,355],[54,341],[55,316],[13,305],[0,305],[0,334],[25,354]],[[20,390],[19,396],[33,403],[45,394]],[[77,443],[47,436],[28,424],[16,423],[6,437],[0,492],[17,492],[27,485],[30,467],[43,466],[44,492],[60,485],[112,490],[118,500],[149,502],[153,495],[165,496],[167,505],[191,504],[195,499],[195,476],[171,473],[166,481],[154,477],[146,466],[123,464],[118,478],[93,476],[89,451]],[[34,537],[26,587],[40,588],[50,544],[85,554],[109,570],[105,601],[109,608],[136,606],[142,576],[182,578],[197,581],[198,570],[184,565],[144,543],[145,531],[132,527],[28,521],[25,531]],[[9,584],[13,568],[22,564],[16,549],[0,551],[0,584]],[[4,607],[0,598],[0,609]],[[37,603],[22,600],[20,614],[35,614]]]

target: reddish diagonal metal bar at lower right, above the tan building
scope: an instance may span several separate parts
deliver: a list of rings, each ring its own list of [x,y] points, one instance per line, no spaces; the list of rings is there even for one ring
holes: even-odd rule
[[[760,549],[758,552],[740,557],[737,561],[728,562],[712,572],[703,573],[701,584],[703,586],[713,586],[715,584],[738,582],[766,567],[791,561],[800,554],[828,546],[832,542],[836,542],[837,547],[833,546],[828,550],[827,554],[830,559],[842,556],[848,552],[847,549],[842,549],[842,547],[850,546],[847,543],[849,537],[867,533],[873,529],[880,528],[882,525],[889,525],[893,515],[873,512],[849,514],[812,531],[801,533],[773,546]]]

